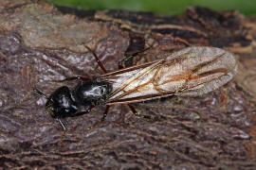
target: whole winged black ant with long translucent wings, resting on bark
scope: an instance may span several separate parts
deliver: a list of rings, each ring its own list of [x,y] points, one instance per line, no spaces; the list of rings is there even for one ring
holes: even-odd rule
[[[57,118],[74,117],[90,112],[97,105],[106,105],[101,121],[109,107],[127,104],[136,114],[130,103],[152,100],[169,95],[198,96],[218,89],[232,79],[237,70],[234,56],[215,47],[187,47],[159,59],[137,66],[107,73],[101,60],[94,55],[104,74],[94,79],[82,76],[66,78],[62,81],[80,79],[70,91],[60,87],[46,97],[46,110]],[[78,112],[79,107],[87,110]],[[64,127],[65,130],[65,127]]]

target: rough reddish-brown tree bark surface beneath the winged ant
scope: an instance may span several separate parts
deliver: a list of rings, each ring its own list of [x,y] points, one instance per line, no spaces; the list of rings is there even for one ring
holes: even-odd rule
[[[180,16],[130,11],[81,11],[43,2],[0,1],[0,167],[10,169],[255,169],[256,20],[237,12],[187,8]],[[237,55],[238,75],[200,97],[172,97],[135,108],[103,106],[64,119],[67,132],[45,110],[66,76],[164,58],[188,45],[221,47]],[[76,82],[68,83],[74,87]]]

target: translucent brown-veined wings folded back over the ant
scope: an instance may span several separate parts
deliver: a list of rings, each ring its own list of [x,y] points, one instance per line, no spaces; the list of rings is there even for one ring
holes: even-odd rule
[[[229,52],[213,47],[188,47],[167,59],[121,69],[100,78],[113,85],[106,103],[132,103],[168,95],[196,96],[229,82],[237,70]]]

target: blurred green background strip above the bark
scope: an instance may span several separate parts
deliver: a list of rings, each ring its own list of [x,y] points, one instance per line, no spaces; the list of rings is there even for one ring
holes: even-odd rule
[[[214,10],[238,10],[256,14],[256,0],[46,0],[56,5],[81,9],[128,9],[159,14],[180,14],[187,6]]]

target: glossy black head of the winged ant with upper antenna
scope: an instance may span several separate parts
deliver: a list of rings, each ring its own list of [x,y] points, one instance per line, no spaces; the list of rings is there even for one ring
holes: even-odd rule
[[[46,97],[39,90],[34,91]],[[77,103],[66,86],[60,87],[46,99],[46,110],[53,118],[70,117],[78,110]]]

